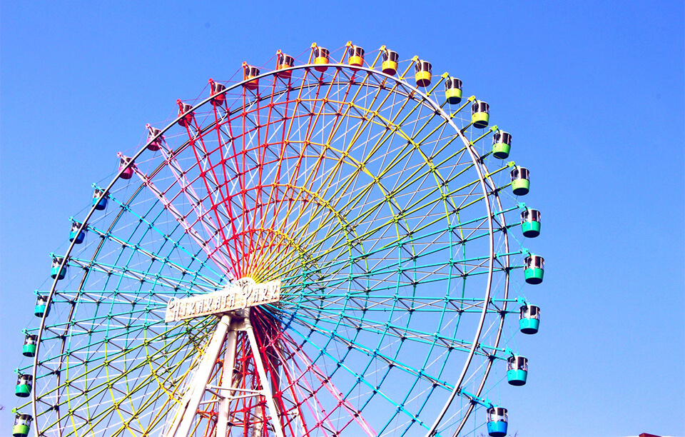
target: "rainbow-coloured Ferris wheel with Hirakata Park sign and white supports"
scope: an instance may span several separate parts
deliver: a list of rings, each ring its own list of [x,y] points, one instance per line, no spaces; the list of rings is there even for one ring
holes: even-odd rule
[[[13,435],[505,436],[544,260],[489,105],[351,43],[203,94],[71,219]]]

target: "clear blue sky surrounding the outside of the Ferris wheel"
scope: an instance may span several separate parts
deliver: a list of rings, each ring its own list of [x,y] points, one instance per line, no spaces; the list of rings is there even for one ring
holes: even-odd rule
[[[243,61],[352,40],[457,75],[527,149],[544,324],[510,429],[685,436],[682,1],[232,3],[2,2],[1,434],[32,292],[116,152]]]

